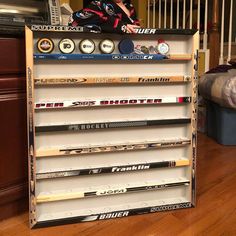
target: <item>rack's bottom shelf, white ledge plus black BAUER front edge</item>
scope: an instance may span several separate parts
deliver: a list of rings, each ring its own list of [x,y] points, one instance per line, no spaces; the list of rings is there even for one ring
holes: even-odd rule
[[[76,212],[57,213],[50,215],[43,214],[38,217],[37,224],[34,226],[34,228],[55,226],[61,224],[73,224],[95,220],[123,218],[127,216],[177,210],[190,207],[193,207],[192,203],[189,202],[185,197],[181,197],[165,199],[165,201],[142,201],[125,206],[94,208],[90,209],[89,211],[81,211],[78,215],[76,215]]]

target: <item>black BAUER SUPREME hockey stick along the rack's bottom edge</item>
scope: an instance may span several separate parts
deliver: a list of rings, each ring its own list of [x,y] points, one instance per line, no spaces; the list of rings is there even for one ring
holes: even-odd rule
[[[145,202],[146,203],[146,202]],[[147,205],[148,202],[146,203]],[[181,201],[179,203],[172,203],[172,204],[162,204],[156,206],[146,206],[140,208],[127,208],[121,211],[111,211],[111,212],[104,212],[100,214],[92,214],[92,215],[84,215],[84,216],[75,216],[75,217],[68,217],[68,218],[58,218],[52,220],[41,220],[38,221],[34,228],[38,227],[47,227],[47,226],[56,226],[61,224],[72,224],[72,223],[79,223],[79,222],[88,222],[88,221],[95,221],[95,220],[107,220],[107,219],[116,219],[116,218],[123,218],[128,216],[134,215],[141,215],[146,213],[154,213],[160,211],[171,211],[177,209],[184,209],[192,207],[191,202]]]

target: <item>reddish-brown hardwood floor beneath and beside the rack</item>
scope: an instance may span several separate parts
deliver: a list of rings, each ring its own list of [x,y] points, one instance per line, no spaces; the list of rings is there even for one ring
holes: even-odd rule
[[[236,147],[198,136],[197,207],[29,230],[28,213],[0,222],[1,236],[234,236]]]

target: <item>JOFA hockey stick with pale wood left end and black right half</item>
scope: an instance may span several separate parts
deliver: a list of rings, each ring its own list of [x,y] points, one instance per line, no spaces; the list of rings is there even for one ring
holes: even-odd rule
[[[123,193],[132,193],[132,192],[141,192],[141,191],[150,191],[150,190],[162,190],[166,188],[173,187],[181,187],[188,186],[190,181],[181,181],[181,182],[170,182],[170,183],[146,183],[144,185],[134,185],[131,187],[113,187],[106,188],[97,191],[84,191],[84,192],[67,192],[61,194],[48,194],[48,195],[38,195],[36,198],[37,203],[45,203],[45,202],[55,202],[55,201],[63,201],[63,200],[72,200],[72,199],[80,199],[94,196],[109,196],[115,194],[123,194]]]

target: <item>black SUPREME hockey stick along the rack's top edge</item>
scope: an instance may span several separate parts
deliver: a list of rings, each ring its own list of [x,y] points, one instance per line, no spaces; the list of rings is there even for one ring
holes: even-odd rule
[[[74,32],[74,33],[98,33],[102,34],[99,31],[95,31],[88,27],[73,27],[73,26],[64,26],[64,25],[32,25],[29,27],[34,32]],[[160,34],[175,34],[175,35],[194,35],[197,32],[195,29],[149,29],[141,28],[138,29],[138,35],[160,35]]]

